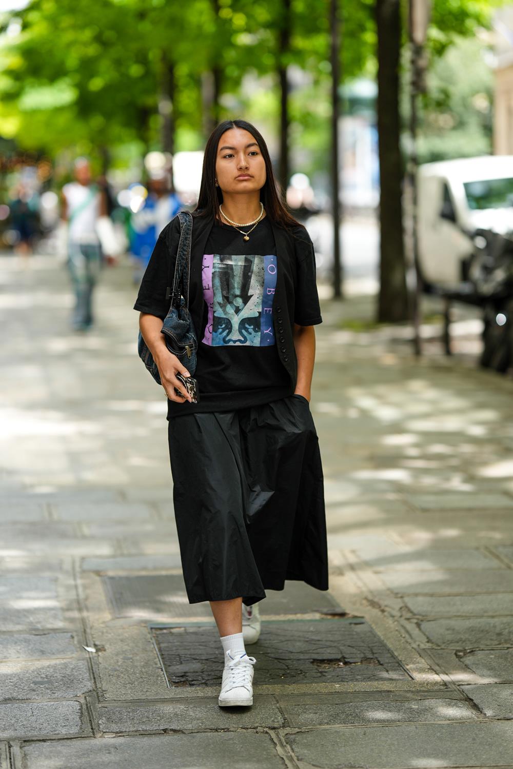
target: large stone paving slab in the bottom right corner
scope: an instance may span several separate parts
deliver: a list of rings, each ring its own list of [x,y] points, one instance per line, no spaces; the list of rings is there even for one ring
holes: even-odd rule
[[[286,741],[301,769],[511,767],[513,722],[329,727]]]

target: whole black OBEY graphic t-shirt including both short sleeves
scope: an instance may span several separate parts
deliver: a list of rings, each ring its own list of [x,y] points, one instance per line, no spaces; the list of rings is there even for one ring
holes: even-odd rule
[[[178,216],[170,226],[172,237],[177,239]],[[200,402],[168,399],[168,419],[264,404],[294,392],[275,339],[278,285],[287,292],[286,304],[294,308],[295,323],[322,322],[313,245],[311,241],[308,245],[308,235],[300,228],[296,228],[298,239],[293,250],[281,245],[278,253],[275,225],[267,216],[258,222],[248,241],[224,222],[212,219],[204,226],[202,245],[193,238],[189,285],[189,308],[198,338],[194,376]],[[162,320],[169,309],[165,293],[172,268],[168,235],[158,237],[134,305],[135,310]],[[306,246],[296,251],[299,243]],[[283,341],[278,338],[279,345]]]

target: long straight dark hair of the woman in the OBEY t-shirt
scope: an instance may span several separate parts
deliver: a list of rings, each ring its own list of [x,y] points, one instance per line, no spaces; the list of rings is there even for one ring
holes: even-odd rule
[[[196,208],[192,211],[192,215],[212,216],[213,218],[216,218],[219,215],[219,203],[222,203],[222,191],[220,187],[215,186],[215,161],[218,153],[219,139],[225,131],[228,131],[230,128],[244,128],[245,131],[248,131],[258,143],[258,147],[260,148],[265,161],[265,184],[260,190],[260,201],[264,204],[265,215],[281,227],[301,227],[305,229],[305,225],[301,225],[301,222],[296,221],[289,213],[286,204],[281,200],[280,195],[278,195],[275,174],[272,170],[271,158],[269,157],[269,151],[265,144],[264,137],[252,123],[248,123],[246,120],[239,120],[238,118],[235,120],[225,120],[222,123],[219,123],[208,137],[205,146],[205,155],[203,155],[202,184],[199,188],[198,205],[196,205]]]

